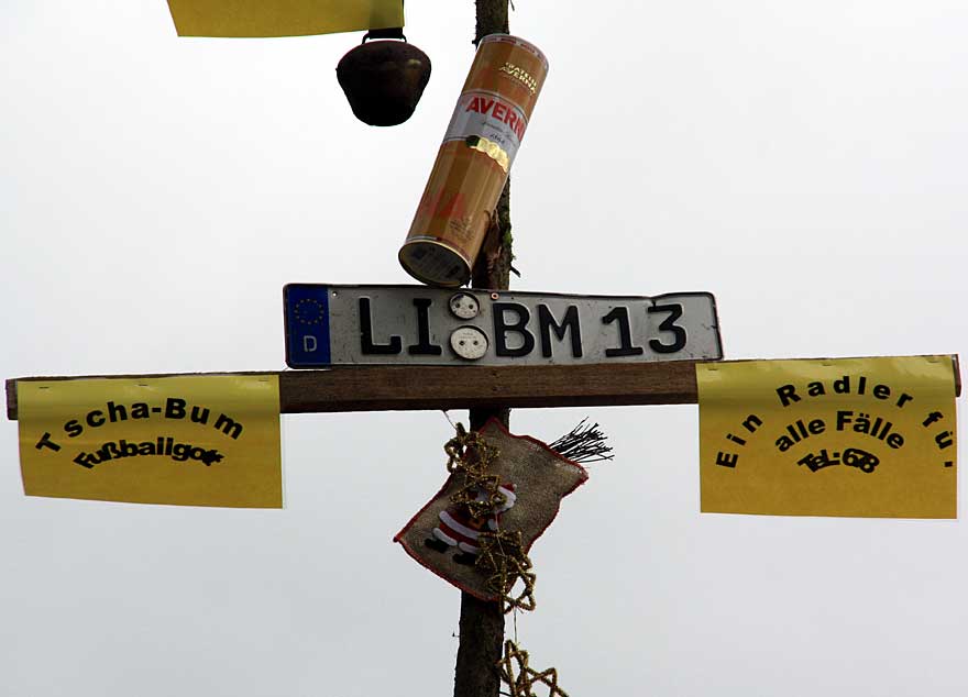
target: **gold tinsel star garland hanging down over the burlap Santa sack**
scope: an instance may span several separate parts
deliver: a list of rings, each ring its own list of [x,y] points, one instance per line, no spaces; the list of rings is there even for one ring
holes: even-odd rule
[[[448,455],[447,471],[463,474],[464,482],[450,500],[465,505],[474,517],[486,516],[507,500],[498,490],[501,478],[488,474],[491,463],[497,460],[501,452],[476,431],[468,432],[460,423],[455,429],[457,435],[443,446]],[[476,567],[490,574],[487,588],[499,596],[502,612],[534,610],[537,575],[531,571],[531,560],[525,552],[520,531],[482,532],[477,536],[477,546],[481,552]],[[518,580],[525,587],[518,596],[514,596],[512,591]],[[568,693],[558,686],[558,671],[551,667],[538,672],[530,667],[528,652],[514,641],[504,643],[504,657],[496,666],[501,679],[510,690],[510,697],[536,697],[532,688],[539,683],[549,688],[548,697],[568,697]]]

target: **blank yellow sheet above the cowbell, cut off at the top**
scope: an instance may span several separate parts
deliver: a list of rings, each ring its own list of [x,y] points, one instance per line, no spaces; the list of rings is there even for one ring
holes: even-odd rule
[[[404,25],[403,0],[168,0],[179,36],[305,36]]]

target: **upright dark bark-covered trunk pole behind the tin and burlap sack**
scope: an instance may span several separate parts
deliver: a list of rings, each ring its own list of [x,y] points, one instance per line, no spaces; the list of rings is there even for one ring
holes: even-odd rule
[[[487,34],[507,33],[508,0],[475,0],[476,44]],[[505,185],[481,254],[471,276],[473,288],[506,290],[510,280],[510,180]],[[497,417],[508,425],[510,409],[471,409],[471,429],[480,429]],[[501,604],[461,594],[460,646],[454,668],[454,697],[498,697],[501,678],[496,667],[504,644]]]

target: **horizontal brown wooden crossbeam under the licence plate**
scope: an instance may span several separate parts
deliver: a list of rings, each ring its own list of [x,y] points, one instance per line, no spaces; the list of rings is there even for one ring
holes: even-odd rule
[[[471,407],[610,407],[693,405],[697,400],[694,361],[615,365],[542,366],[354,366],[327,370],[284,370],[279,411],[406,411]],[[961,394],[958,356],[952,356],[956,394]],[[266,375],[212,373],[209,375]],[[186,374],[178,374],[186,375]],[[206,375],[206,374],[194,374]],[[90,377],[174,377],[101,375]],[[7,380],[7,416],[16,419],[16,383]]]

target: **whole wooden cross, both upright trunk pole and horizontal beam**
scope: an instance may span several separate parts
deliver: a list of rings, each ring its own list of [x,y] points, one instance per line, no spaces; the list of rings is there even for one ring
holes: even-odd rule
[[[476,0],[476,38],[507,32],[507,0]],[[506,289],[510,269],[508,189],[495,215],[488,244],[473,274],[473,287]],[[956,362],[956,357],[953,357]],[[526,366],[353,366],[277,373],[280,413],[470,409],[471,428],[512,408],[681,405],[697,402],[696,362]],[[266,373],[257,373],[265,375]],[[183,374],[184,375],[184,374]],[[219,375],[226,375],[224,373]],[[231,374],[230,374],[231,375]],[[235,374],[244,375],[244,374]],[[98,376],[98,377],[172,377]],[[31,380],[73,377],[23,377],[7,380],[7,413],[18,419],[16,387]],[[960,395],[955,364],[956,395]],[[499,604],[462,596],[460,649],[454,694],[495,697],[502,655],[504,617]],[[509,663],[508,663],[509,666]]]

